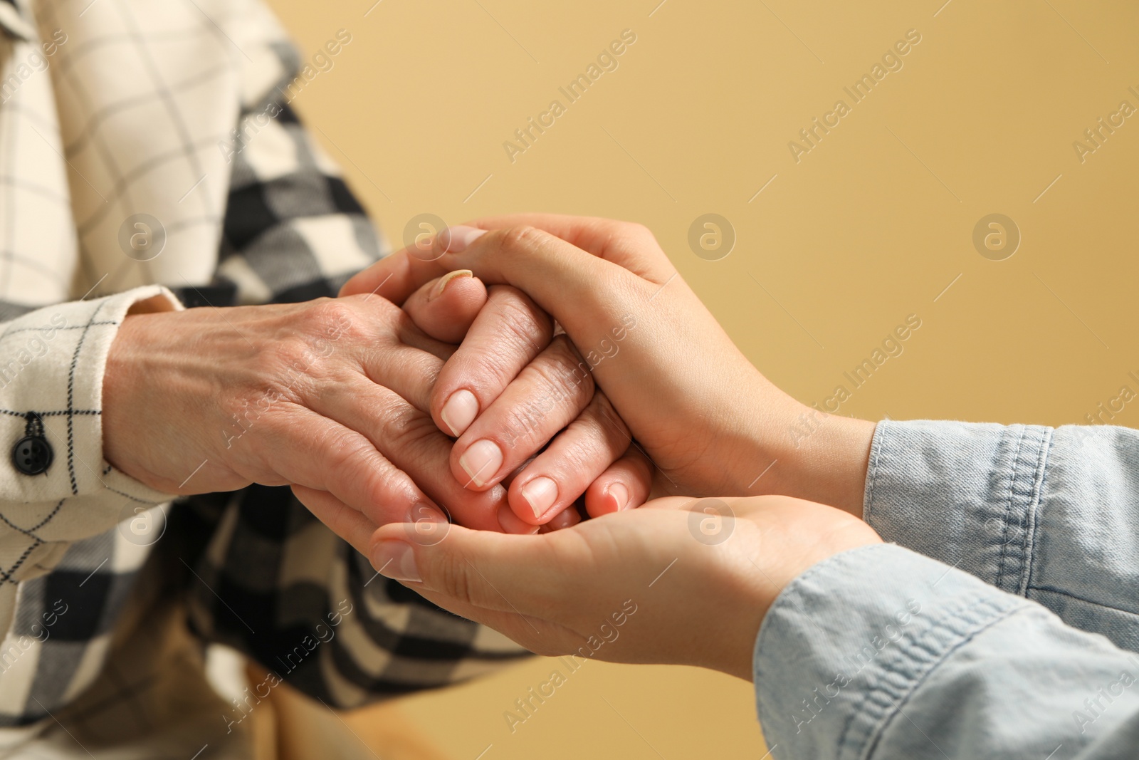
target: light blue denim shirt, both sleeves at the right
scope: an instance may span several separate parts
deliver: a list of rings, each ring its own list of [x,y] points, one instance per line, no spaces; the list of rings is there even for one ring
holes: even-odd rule
[[[863,509],[760,629],[772,758],[1139,758],[1139,432],[879,423]]]

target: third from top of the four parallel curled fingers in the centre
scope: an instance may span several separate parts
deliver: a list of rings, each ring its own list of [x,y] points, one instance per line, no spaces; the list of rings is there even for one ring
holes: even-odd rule
[[[523,522],[549,522],[625,452],[631,438],[609,400],[598,391],[577,418],[510,483],[510,508]]]

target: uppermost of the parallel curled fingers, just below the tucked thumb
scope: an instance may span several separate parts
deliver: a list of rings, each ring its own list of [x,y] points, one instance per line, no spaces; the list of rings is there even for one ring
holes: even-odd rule
[[[554,321],[517,288],[490,288],[485,308],[432,389],[440,430],[462,435],[554,336]]]

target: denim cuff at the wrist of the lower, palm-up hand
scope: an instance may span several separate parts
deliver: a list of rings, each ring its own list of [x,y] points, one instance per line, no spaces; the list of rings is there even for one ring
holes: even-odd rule
[[[862,758],[962,643],[1031,603],[899,546],[793,580],[755,641],[756,710],[776,758]]]

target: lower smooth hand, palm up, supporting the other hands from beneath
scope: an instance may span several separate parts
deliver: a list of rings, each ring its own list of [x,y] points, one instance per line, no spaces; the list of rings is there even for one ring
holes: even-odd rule
[[[570,530],[445,540],[377,531],[372,565],[435,604],[544,655],[691,664],[752,679],[760,624],[794,578],[880,539],[845,512],[789,497],[683,499]]]

